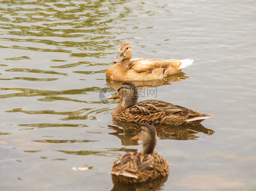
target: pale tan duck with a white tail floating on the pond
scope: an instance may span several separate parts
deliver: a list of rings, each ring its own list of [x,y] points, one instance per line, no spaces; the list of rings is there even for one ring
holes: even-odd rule
[[[143,81],[161,79],[179,73],[181,69],[193,64],[192,59],[132,59],[131,44],[120,44],[118,56],[106,77],[117,81]]]

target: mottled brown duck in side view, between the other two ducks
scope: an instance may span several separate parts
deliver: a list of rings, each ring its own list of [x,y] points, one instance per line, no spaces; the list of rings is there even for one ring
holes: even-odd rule
[[[137,103],[137,87],[129,82],[123,83],[117,94],[108,98],[118,96],[122,102],[114,109],[112,117],[120,121],[140,124],[190,125],[212,117],[212,115],[155,99]]]

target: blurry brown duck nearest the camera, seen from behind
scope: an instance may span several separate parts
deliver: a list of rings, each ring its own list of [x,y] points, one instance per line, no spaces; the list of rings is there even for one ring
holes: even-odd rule
[[[155,150],[156,129],[153,125],[144,125],[132,140],[141,140],[141,152],[128,152],[114,162],[112,172],[114,182],[139,183],[168,176],[169,164]]]

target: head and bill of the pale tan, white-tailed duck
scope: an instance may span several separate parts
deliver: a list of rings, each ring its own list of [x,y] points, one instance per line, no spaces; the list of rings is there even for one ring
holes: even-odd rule
[[[124,42],[120,44],[118,49],[117,58],[114,59],[113,63],[120,63],[122,60],[129,61],[133,56],[133,49],[130,43]]]

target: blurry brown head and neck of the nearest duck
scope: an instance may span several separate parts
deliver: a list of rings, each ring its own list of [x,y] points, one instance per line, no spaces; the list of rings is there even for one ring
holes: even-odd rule
[[[157,133],[153,125],[143,125],[138,135],[131,138],[131,140],[141,140],[142,153],[153,154],[157,143]]]

